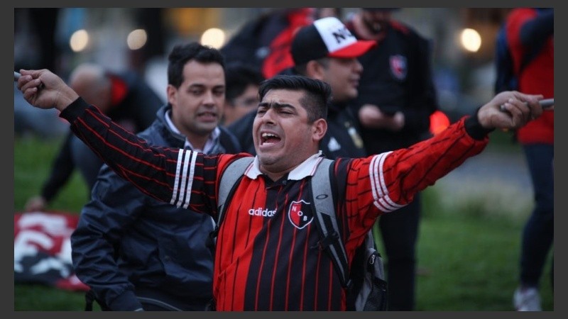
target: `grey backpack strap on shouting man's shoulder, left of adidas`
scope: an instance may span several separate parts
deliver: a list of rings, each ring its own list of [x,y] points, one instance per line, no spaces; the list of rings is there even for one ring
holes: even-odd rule
[[[225,170],[219,181],[219,196],[217,196],[217,225],[215,229],[209,233],[209,237],[214,240],[219,233],[219,226],[221,225],[224,213],[225,213],[225,203],[227,198],[231,198],[236,189],[236,185],[244,176],[244,171],[249,164],[253,162],[254,157],[241,157],[229,163],[225,167]]]

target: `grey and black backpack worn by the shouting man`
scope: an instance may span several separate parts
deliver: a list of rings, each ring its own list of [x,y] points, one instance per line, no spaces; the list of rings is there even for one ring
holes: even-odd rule
[[[236,159],[226,167],[219,182],[219,199],[217,202],[219,216],[212,238],[217,237],[225,213],[225,203],[231,198],[236,185],[244,177],[246,167],[253,157]],[[339,236],[339,228],[335,216],[332,198],[329,167],[331,159],[323,159],[317,167],[310,185],[315,207],[315,221],[320,230],[320,247],[327,252],[335,267],[335,271],[347,291],[347,310],[378,311],[387,308],[387,283],[383,269],[383,259],[376,249],[372,230],[361,246],[356,250],[354,260],[349,269],[345,247]],[[317,185],[317,189],[313,185]],[[317,194],[317,195],[316,195]],[[329,194],[329,196],[327,196]],[[230,199],[229,199],[230,200]]]

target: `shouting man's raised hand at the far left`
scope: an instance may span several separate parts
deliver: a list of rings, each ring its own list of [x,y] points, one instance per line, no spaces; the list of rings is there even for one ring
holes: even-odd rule
[[[79,95],[48,69],[20,70],[18,89],[23,98],[38,108],[57,108],[63,111]]]

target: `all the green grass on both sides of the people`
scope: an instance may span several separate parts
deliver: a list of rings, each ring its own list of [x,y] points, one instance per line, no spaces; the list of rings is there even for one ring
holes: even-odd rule
[[[497,133],[508,151],[518,152],[509,136]],[[29,196],[38,194],[61,140],[18,139],[14,143],[14,207],[21,211]],[[490,145],[489,148],[493,147]],[[493,191],[495,192],[495,191]],[[498,190],[496,191],[498,192]],[[503,216],[503,207],[464,201],[444,206],[437,186],[424,192],[424,215],[418,243],[416,310],[509,311],[517,285],[520,234],[524,218]],[[82,179],[75,174],[50,206],[79,212],[87,201]],[[476,199],[479,201],[479,199]],[[383,251],[383,250],[381,250]],[[550,260],[550,259],[549,259]],[[388,261],[387,261],[388,262]],[[541,280],[544,310],[554,310],[550,262]],[[95,306],[95,310],[98,308]],[[14,310],[84,309],[84,293],[45,286],[14,284]]]

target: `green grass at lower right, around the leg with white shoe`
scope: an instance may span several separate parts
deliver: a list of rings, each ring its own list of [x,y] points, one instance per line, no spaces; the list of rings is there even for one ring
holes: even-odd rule
[[[452,214],[420,226],[417,310],[512,310],[522,224]],[[550,263],[542,279],[542,307],[554,310]]]

